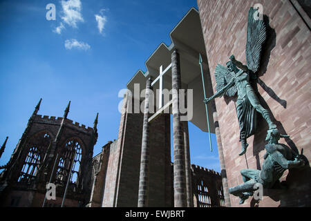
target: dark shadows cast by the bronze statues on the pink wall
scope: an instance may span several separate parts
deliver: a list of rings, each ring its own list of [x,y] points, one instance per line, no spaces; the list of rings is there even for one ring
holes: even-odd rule
[[[267,41],[265,43],[265,47],[263,48],[263,55],[261,57],[261,69],[258,72],[258,77],[263,76],[267,71],[267,66],[269,64],[271,51],[276,46],[276,32],[274,28],[270,26],[269,18],[264,15],[263,17],[266,27],[267,27]],[[258,78],[257,82],[265,92],[267,92],[270,97],[272,97],[276,102],[278,102],[283,108],[287,107],[287,102],[284,99],[281,99],[272,88],[269,88],[261,79]],[[265,102],[265,99],[261,97],[258,93],[257,85],[254,85],[254,89],[257,92],[258,99],[260,103],[263,105],[263,108],[267,109],[270,112],[272,121],[276,124],[280,133],[286,135],[285,128],[282,123],[277,121],[274,117],[271,109]],[[256,166],[258,170],[261,170],[261,162],[258,153],[265,149],[265,140],[263,137],[266,135],[266,131],[268,126],[261,115],[257,115],[258,117],[258,128],[261,130],[254,135],[254,143],[253,146],[253,155],[256,157]],[[294,144],[294,142],[290,139],[290,137],[285,137],[285,142],[290,146],[292,151],[299,154],[298,148]],[[254,145],[256,144],[256,145]],[[311,183],[311,168],[310,163],[308,162],[307,157],[304,155],[301,156],[303,160],[305,160],[305,166],[302,169],[290,169],[288,171],[288,175],[286,176],[286,180],[283,182],[276,182],[272,189],[264,189],[263,195],[268,196],[275,202],[280,201],[279,206],[311,206],[311,195],[310,195],[310,183]],[[257,207],[260,205],[260,201],[252,199],[250,202],[250,206]]]

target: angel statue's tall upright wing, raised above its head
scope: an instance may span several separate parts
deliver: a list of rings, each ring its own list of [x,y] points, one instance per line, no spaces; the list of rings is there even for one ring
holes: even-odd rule
[[[263,19],[255,19],[257,9],[250,8],[248,12],[247,42],[246,42],[246,64],[249,70],[256,73],[261,60],[261,50],[267,37],[265,22]]]

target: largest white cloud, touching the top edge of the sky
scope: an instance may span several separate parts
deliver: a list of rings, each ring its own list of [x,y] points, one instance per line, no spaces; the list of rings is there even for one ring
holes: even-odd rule
[[[80,0],[61,1],[62,3],[62,20],[73,28],[77,28],[78,22],[83,22],[81,15],[82,3]]]

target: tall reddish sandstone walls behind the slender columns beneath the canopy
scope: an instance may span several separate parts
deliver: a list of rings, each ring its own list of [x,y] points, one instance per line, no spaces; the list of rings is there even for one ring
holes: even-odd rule
[[[142,148],[142,113],[129,112],[124,98],[117,143],[111,144],[104,207],[137,206]],[[133,103],[132,103],[133,104]],[[133,106],[132,106],[133,107]],[[171,206],[170,115],[150,123],[149,206]]]

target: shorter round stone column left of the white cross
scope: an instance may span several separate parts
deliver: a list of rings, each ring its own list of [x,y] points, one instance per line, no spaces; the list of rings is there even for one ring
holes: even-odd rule
[[[148,206],[149,197],[149,97],[151,77],[146,82],[146,96],[144,100],[144,121],[142,127],[142,153],[140,157],[140,184],[138,188],[138,207]]]

